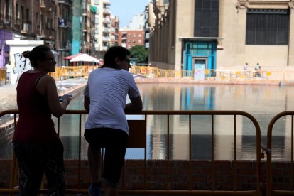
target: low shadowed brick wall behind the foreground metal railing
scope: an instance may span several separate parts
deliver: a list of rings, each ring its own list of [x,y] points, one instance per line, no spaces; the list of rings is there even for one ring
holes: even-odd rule
[[[0,160],[0,188],[8,188],[11,160]],[[121,188],[144,189],[144,161],[126,160],[124,183]],[[211,175],[214,172],[215,175]],[[256,190],[256,163],[252,161],[236,162],[236,176],[234,163],[229,160],[219,160],[212,163],[208,160],[148,160],[146,162],[146,188],[150,190],[234,190],[236,178],[237,190]],[[263,188],[266,187],[266,162],[262,164]],[[89,165],[87,160],[81,163],[80,187],[78,182],[78,161],[65,160],[65,178],[67,188],[87,189],[90,182]],[[214,178],[214,183],[212,180]],[[192,181],[190,181],[192,180]],[[123,180],[121,180],[123,182]],[[290,190],[290,163],[273,163],[273,189]]]

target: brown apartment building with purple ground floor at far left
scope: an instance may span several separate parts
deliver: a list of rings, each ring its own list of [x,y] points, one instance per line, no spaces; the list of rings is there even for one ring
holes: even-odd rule
[[[0,1],[0,67],[9,61],[6,40],[45,40],[45,44],[55,49],[57,11],[57,1]]]

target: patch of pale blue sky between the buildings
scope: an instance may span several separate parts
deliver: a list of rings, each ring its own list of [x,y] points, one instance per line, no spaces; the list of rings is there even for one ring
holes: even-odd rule
[[[119,27],[128,26],[131,18],[145,11],[149,0],[110,0],[111,15],[119,16]]]

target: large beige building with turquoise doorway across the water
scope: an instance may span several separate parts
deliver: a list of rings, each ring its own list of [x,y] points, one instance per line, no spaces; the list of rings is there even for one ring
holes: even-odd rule
[[[294,68],[293,0],[159,0],[150,62],[163,69]],[[151,10],[151,9],[149,9]]]

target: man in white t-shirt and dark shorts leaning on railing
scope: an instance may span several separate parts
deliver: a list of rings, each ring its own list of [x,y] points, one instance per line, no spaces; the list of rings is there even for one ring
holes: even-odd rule
[[[104,55],[102,68],[93,70],[85,87],[84,106],[89,111],[85,139],[89,143],[88,160],[92,183],[89,193],[99,196],[102,181],[106,196],[118,194],[121,168],[124,165],[129,127],[125,111],[141,111],[143,104],[131,67],[130,52],[113,46]],[[130,103],[126,104],[129,95]],[[105,148],[102,174],[101,149]]]

